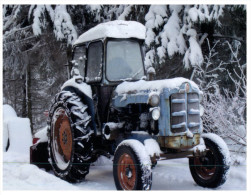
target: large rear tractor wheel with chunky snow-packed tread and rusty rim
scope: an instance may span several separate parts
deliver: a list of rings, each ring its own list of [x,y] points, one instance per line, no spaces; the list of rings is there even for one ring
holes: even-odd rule
[[[80,182],[89,173],[93,150],[87,106],[72,92],[56,95],[48,119],[49,162],[56,176]]]

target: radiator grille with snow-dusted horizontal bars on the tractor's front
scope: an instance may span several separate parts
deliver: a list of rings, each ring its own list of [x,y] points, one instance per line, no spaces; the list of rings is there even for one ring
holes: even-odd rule
[[[176,93],[171,96],[171,131],[191,132],[200,127],[199,95],[197,93]]]

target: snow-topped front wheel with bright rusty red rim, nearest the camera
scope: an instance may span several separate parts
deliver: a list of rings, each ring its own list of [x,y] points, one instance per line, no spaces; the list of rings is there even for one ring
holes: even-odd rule
[[[118,146],[114,155],[113,176],[118,190],[151,189],[151,161],[142,143],[125,140]]]

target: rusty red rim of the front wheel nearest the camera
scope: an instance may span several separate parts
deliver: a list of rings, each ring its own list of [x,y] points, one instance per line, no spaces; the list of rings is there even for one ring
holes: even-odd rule
[[[136,182],[136,167],[132,157],[125,153],[118,161],[118,178],[124,190],[133,190]]]

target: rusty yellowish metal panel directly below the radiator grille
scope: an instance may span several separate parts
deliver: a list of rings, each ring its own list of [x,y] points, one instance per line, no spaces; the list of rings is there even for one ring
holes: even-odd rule
[[[192,138],[182,136],[159,136],[158,143],[161,148],[189,149],[200,143],[200,134],[194,134]]]

